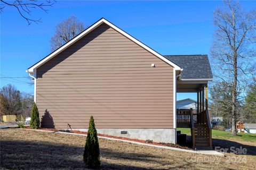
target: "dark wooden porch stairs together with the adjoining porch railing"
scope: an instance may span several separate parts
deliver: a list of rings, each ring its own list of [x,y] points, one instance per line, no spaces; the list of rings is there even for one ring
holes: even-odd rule
[[[191,129],[193,149],[212,149],[212,128],[208,111],[193,114],[190,109],[186,112],[178,112],[178,127]],[[182,126],[182,127],[181,127]]]

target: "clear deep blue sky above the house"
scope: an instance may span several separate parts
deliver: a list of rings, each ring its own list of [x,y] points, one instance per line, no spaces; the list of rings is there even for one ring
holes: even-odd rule
[[[241,1],[245,10],[256,1]],[[55,26],[71,15],[86,26],[106,18],[162,55],[207,54],[213,40],[213,11],[221,1],[57,1],[47,13],[34,10],[28,25],[15,8],[6,6],[0,16],[0,85],[34,93],[26,70],[50,51]],[[210,59],[211,60],[211,59]],[[4,77],[10,77],[5,78]],[[13,78],[15,77],[15,78]],[[196,94],[178,94],[177,99]]]

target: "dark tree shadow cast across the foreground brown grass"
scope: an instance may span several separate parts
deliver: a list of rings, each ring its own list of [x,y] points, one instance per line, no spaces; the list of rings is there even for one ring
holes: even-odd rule
[[[1,168],[86,169],[83,164],[83,147],[20,140],[3,140],[0,144]],[[160,169],[163,169],[161,167],[170,164],[161,160],[161,156],[155,156],[154,153],[116,152],[111,149],[102,148],[100,154],[101,158],[110,161],[101,162],[99,169],[154,169],[150,167],[139,167],[137,166],[138,162],[157,164]],[[116,160],[116,162],[113,163],[111,160]],[[123,160],[123,163],[120,163],[119,160]],[[134,165],[124,165],[125,162],[132,162]]]

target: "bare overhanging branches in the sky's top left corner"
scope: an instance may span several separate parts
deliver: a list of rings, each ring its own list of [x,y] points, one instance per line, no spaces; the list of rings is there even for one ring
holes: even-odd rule
[[[3,1],[0,0],[0,12],[4,11],[5,6],[11,6],[17,9],[18,13],[21,15],[22,18],[24,18],[28,24],[30,25],[32,22],[38,23],[41,22],[41,18],[39,19],[32,19],[30,18],[31,10],[39,8],[44,12],[47,12],[46,7],[52,7],[52,5],[55,3],[55,1],[51,0],[45,0],[45,1],[37,1],[37,0],[28,0],[28,1],[22,1],[22,0],[14,0],[14,1]]]

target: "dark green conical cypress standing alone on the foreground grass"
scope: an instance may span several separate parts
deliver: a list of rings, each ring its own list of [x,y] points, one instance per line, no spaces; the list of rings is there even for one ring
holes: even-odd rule
[[[90,168],[97,168],[100,166],[100,148],[93,116],[90,118],[84,147],[84,163]]]

